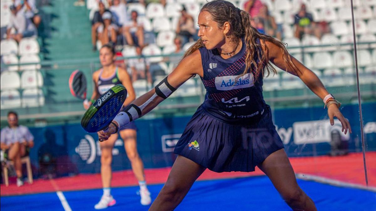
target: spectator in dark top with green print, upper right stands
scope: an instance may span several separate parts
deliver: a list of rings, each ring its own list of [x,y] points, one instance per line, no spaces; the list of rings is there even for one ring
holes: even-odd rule
[[[318,39],[321,38],[320,29],[313,21],[312,14],[306,11],[305,4],[302,4],[299,12],[295,15],[294,25],[296,27],[295,37],[298,39],[302,39],[304,34],[315,35]]]

